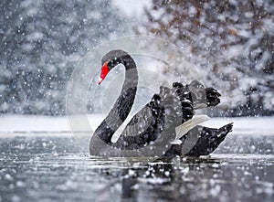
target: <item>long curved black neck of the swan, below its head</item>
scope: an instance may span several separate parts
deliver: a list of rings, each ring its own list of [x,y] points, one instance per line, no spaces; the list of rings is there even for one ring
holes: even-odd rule
[[[106,144],[111,144],[112,135],[117,131],[132,110],[138,85],[137,67],[130,55],[123,56],[121,63],[125,67],[125,80],[121,88],[121,93],[112,106],[111,112],[109,112],[104,121],[100,123],[100,126],[91,137],[90,147],[92,139],[96,135]]]

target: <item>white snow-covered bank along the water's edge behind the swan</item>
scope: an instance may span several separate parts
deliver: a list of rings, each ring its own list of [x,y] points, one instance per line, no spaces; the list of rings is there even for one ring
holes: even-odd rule
[[[99,114],[90,115],[92,128],[96,128],[102,121]],[[204,122],[206,127],[221,127],[234,122],[234,134],[274,135],[274,117],[237,117],[211,118]],[[20,135],[69,135],[68,119],[64,117],[30,116],[30,115],[2,115],[0,116],[0,137]]]

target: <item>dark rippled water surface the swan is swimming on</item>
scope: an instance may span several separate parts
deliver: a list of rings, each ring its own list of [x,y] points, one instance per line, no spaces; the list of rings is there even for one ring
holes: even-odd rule
[[[151,165],[90,158],[68,137],[0,138],[0,201],[274,201],[274,136]]]

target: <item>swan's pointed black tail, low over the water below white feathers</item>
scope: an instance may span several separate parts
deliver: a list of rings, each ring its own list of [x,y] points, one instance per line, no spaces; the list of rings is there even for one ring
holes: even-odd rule
[[[232,127],[233,122],[219,129],[203,127],[195,146],[185,155],[198,157],[213,153],[225,140],[227,133],[232,132]]]

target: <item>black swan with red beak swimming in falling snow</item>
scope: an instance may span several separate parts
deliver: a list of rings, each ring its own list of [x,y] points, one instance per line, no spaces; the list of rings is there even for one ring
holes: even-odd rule
[[[220,94],[215,89],[205,88],[196,80],[185,86],[179,82],[174,82],[172,88],[160,87],[159,94],[153,95],[152,100],[132,117],[118,141],[112,143],[112,135],[131,112],[137,91],[138,71],[133,58],[120,49],[111,50],[101,59],[101,63],[99,84],[105,79],[109,71],[118,64],[122,64],[126,69],[125,80],[121,94],[112,106],[111,112],[100,123],[90,139],[91,155],[108,156],[109,153],[106,151],[107,147],[110,148],[110,146],[119,150],[138,150],[153,144],[162,133],[174,137],[175,127],[191,120],[195,109],[201,108],[201,106],[216,106],[220,102]],[[206,102],[204,105],[203,101]],[[170,144],[169,148],[163,148],[162,156],[210,154],[231,131],[232,123],[219,129],[195,126],[180,137],[179,144]],[[184,147],[187,147],[185,139],[193,133],[198,133],[197,141],[184,153]]]

